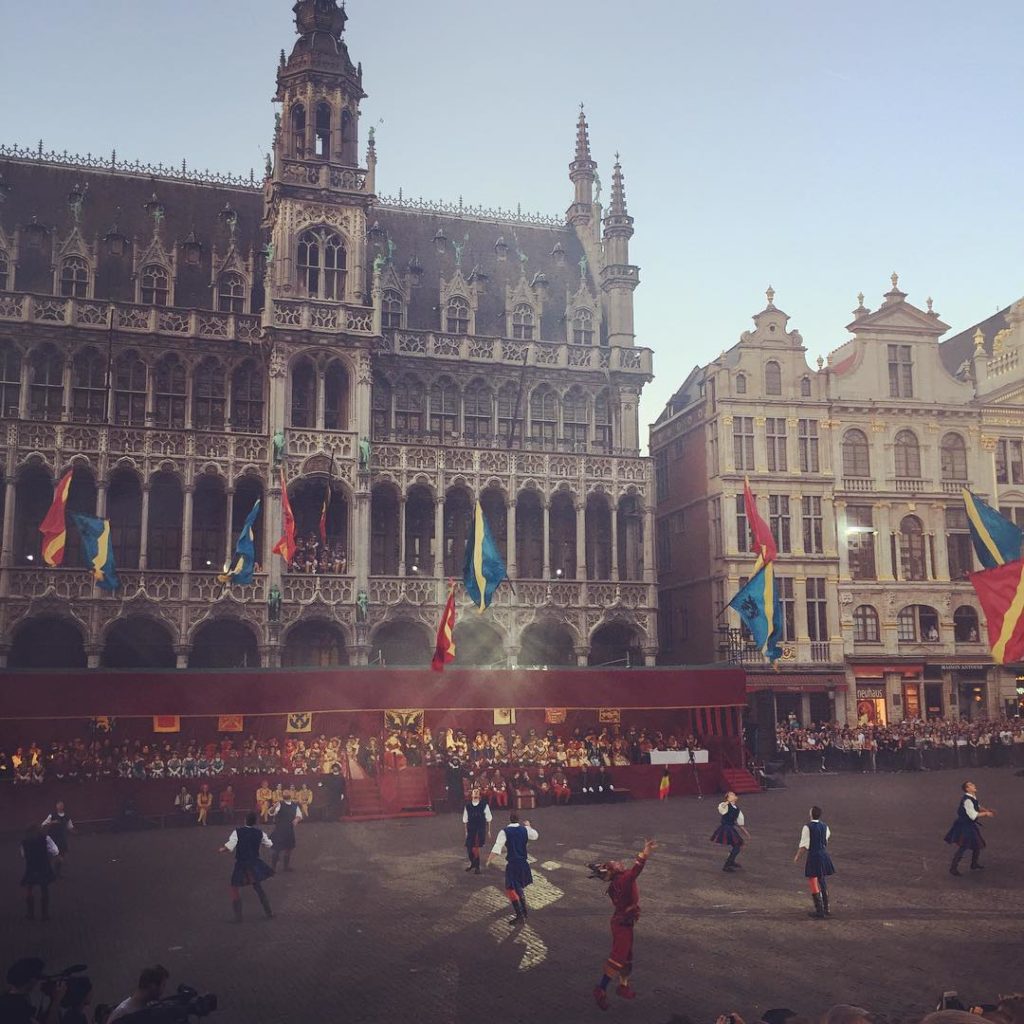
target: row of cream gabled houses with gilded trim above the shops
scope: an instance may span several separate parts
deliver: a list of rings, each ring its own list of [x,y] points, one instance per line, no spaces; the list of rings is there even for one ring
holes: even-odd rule
[[[663,659],[748,666],[752,721],[982,718],[1021,707],[967,574],[961,492],[1024,524],[1024,300],[976,328],[863,296],[808,366],[774,304],[695,368],[651,428]],[[767,671],[727,602],[750,577],[743,477],[779,549],[783,655]]]

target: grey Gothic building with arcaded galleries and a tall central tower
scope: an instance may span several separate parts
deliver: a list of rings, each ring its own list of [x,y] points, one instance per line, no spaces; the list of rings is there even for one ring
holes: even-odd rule
[[[0,658],[426,665],[479,501],[514,590],[462,616],[460,664],[652,664],[617,160],[603,209],[581,111],[564,218],[382,199],[344,10],[295,14],[262,181],[0,150]],[[114,595],[74,528],[41,564],[69,469],[70,511],[110,520]],[[225,587],[257,500],[258,571]]]

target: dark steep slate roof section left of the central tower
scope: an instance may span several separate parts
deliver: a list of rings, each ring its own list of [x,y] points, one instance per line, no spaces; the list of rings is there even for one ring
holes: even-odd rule
[[[251,250],[258,252],[264,245],[264,234],[260,229],[263,197],[255,188],[172,181],[146,175],[18,160],[0,163],[0,173],[10,186],[6,202],[0,204],[0,226],[7,238],[12,241],[15,227],[24,228],[35,219],[50,231],[56,231],[58,251],[75,225],[70,194],[76,188],[84,190],[80,231],[90,252],[95,253],[95,298],[100,300],[134,300],[132,251],[144,250],[153,240],[154,219],[144,205],[154,195],[164,207],[160,239],[165,250],[173,252],[193,231],[196,241],[203,247],[198,265],[186,266],[178,254],[174,291],[176,306],[212,307],[213,247],[216,246],[220,261],[227,255],[229,247],[228,225],[220,216],[225,206],[230,207],[238,217],[236,248],[241,258],[249,259]],[[97,245],[115,228],[129,241],[123,256],[113,256],[108,246]],[[19,257],[14,289],[50,292],[49,245],[44,246],[38,258],[34,259],[23,243]],[[257,310],[262,305],[262,290],[257,286],[252,308]]]

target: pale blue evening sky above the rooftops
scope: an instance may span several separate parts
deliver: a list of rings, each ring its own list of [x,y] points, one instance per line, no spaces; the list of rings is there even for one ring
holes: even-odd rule
[[[3,0],[0,141],[257,174],[291,0]],[[1024,294],[1019,0],[349,0],[378,190],[561,213],[622,153],[641,436],[764,290],[809,359],[900,273],[953,331]]]

